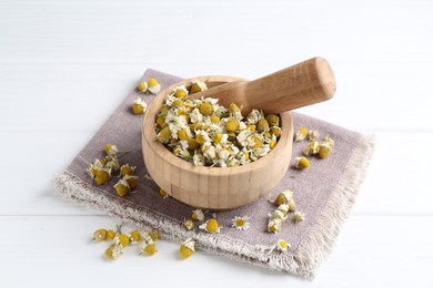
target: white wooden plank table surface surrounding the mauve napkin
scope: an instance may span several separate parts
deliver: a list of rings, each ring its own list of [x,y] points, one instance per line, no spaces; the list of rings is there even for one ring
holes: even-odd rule
[[[433,287],[433,2],[0,0],[0,287]],[[255,79],[326,58],[335,97],[301,112],[377,145],[313,282],[162,240],[105,261],[117,222],[50,185],[147,68]]]

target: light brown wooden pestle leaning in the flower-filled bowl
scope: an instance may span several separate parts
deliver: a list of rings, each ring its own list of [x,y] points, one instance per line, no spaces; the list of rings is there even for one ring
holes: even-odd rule
[[[225,107],[235,103],[246,115],[252,109],[279,114],[330,100],[334,93],[334,73],[326,60],[316,56],[254,81],[230,82],[191,96],[218,97]]]

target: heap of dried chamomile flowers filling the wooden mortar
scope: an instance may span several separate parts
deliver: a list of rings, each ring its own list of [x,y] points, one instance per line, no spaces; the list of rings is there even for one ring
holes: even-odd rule
[[[233,167],[275,147],[281,135],[278,115],[252,110],[244,117],[235,103],[225,109],[218,99],[189,97],[207,89],[204,82],[175,88],[157,115],[157,138],[175,156],[195,166]]]

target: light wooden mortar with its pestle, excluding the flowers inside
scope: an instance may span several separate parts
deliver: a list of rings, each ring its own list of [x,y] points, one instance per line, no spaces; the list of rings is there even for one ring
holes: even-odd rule
[[[233,102],[246,111],[255,107],[266,114],[280,113],[282,133],[275,147],[259,161],[236,167],[194,166],[174,156],[157,141],[155,117],[173,89],[179,85],[189,88],[192,81],[208,84],[209,90],[198,93],[198,96],[219,97],[225,106]],[[175,83],[157,95],[144,115],[142,152],[147,169],[170,196],[193,207],[231,209],[252,203],[270,193],[290,165],[293,120],[290,112],[282,111],[328,100],[334,91],[332,70],[325,60],[318,58],[251,82],[215,75]],[[245,110],[242,111],[244,115]]]

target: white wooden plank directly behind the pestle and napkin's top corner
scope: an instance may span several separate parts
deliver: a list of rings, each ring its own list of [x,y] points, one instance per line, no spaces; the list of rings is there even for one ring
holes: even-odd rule
[[[284,68],[282,62],[254,65],[0,65],[0,131],[95,131],[150,66],[181,76],[235,74],[246,79]],[[433,114],[425,104],[433,94],[433,86],[425,84],[433,63],[332,65],[335,96],[300,112],[356,131],[433,132]]]

